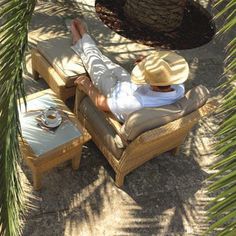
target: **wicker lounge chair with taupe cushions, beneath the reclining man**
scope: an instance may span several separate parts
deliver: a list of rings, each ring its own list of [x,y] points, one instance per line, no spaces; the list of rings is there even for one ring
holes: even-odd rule
[[[208,96],[200,85],[175,104],[141,109],[120,124],[77,88],[75,113],[113,167],[120,187],[124,177],[146,161],[166,151],[179,151],[191,128],[215,109],[216,102],[207,102]]]

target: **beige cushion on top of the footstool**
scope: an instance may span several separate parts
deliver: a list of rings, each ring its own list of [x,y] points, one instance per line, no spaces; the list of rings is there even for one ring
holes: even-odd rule
[[[66,87],[74,86],[74,80],[86,73],[81,59],[71,49],[70,36],[41,41],[37,48],[64,80]]]

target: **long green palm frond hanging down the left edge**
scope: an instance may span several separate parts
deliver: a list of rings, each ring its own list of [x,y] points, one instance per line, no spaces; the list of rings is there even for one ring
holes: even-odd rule
[[[17,100],[24,96],[22,61],[35,2],[0,0],[0,235],[20,234],[23,194]]]

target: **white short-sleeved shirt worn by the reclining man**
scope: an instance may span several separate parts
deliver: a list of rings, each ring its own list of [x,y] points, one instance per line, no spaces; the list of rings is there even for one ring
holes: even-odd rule
[[[136,110],[172,104],[184,96],[183,84],[171,87],[171,92],[156,92],[149,85],[138,87],[131,82],[118,82],[111,96],[107,98],[108,106],[120,121],[124,121]]]

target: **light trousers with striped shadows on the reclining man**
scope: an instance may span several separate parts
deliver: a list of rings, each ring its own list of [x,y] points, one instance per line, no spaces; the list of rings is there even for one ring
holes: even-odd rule
[[[80,56],[94,86],[105,96],[110,96],[118,81],[130,82],[130,74],[104,56],[88,34],[84,34],[72,49]]]

